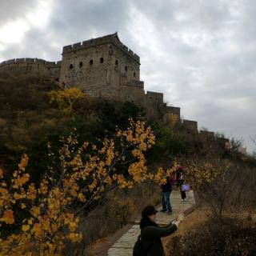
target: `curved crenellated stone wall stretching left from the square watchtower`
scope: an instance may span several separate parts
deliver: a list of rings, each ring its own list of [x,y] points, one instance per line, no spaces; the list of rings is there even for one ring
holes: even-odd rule
[[[40,58],[14,58],[0,63],[0,72],[55,79],[59,76],[60,67],[61,62],[47,62]]]

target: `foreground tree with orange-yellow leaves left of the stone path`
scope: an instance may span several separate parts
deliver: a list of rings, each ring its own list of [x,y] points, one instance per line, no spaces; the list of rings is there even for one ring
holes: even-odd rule
[[[162,168],[146,167],[144,153],[154,141],[150,127],[133,120],[98,145],[79,146],[72,133],[62,138],[59,168],[49,166],[38,186],[26,173],[24,154],[10,181],[0,173],[0,255],[61,255],[65,241],[82,239],[79,214],[106,191],[146,180],[165,182]]]

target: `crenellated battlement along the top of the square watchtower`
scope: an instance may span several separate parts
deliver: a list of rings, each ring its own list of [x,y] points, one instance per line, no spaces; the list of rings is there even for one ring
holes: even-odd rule
[[[136,62],[140,62],[139,56],[119,40],[117,33],[108,34],[101,38],[92,38],[83,42],[76,42],[73,45],[64,46],[62,54],[68,54],[70,52],[73,52],[74,50],[83,50],[94,46],[106,45],[108,43],[114,44],[114,46],[117,46],[125,54],[129,55],[131,58],[134,58]]]

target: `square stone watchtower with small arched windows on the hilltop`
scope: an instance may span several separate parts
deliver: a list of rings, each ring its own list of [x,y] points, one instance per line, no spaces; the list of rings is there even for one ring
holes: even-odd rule
[[[134,99],[144,94],[139,66],[138,55],[124,46],[117,34],[110,34],[64,46],[60,82],[91,96]]]

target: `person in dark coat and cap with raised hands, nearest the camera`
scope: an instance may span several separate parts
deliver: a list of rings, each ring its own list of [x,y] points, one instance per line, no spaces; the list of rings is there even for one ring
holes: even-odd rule
[[[184,218],[184,214],[180,210],[178,218],[174,222],[168,226],[159,227],[155,222],[157,212],[154,206],[146,206],[142,210],[142,219],[140,222],[142,246],[148,256],[165,255],[161,238],[173,234]]]

